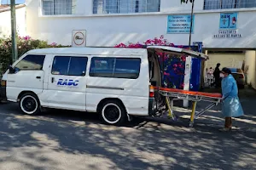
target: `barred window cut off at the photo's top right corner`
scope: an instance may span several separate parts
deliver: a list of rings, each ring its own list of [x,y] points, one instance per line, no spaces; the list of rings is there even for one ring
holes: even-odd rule
[[[204,9],[255,8],[256,0],[205,0]]]

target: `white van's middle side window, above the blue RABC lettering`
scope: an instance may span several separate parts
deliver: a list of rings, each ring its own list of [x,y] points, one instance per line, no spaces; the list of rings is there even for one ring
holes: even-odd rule
[[[87,57],[55,56],[52,71],[53,75],[85,76]]]

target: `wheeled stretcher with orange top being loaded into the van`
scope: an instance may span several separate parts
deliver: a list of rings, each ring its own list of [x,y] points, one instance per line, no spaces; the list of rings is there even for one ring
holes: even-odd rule
[[[202,116],[205,112],[212,109],[212,107],[218,105],[222,100],[222,94],[204,93],[204,92],[192,92],[187,90],[181,90],[176,88],[157,88],[152,87],[154,90],[166,99],[166,105],[168,109],[168,117],[176,121],[177,116],[173,113],[173,101],[174,100],[189,100],[192,101],[192,111],[190,115],[189,127],[194,126],[195,119]],[[209,103],[207,107],[195,113],[197,102],[206,101]]]

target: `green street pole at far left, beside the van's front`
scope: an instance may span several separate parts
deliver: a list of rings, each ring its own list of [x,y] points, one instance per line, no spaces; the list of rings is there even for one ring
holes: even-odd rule
[[[11,6],[11,29],[12,29],[12,63],[18,58],[18,49],[16,41],[16,14],[15,14],[15,0],[10,0]]]

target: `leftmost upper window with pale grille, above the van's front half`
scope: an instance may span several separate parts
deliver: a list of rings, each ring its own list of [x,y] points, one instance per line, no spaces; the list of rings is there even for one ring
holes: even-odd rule
[[[43,15],[73,14],[75,0],[42,0]]]

